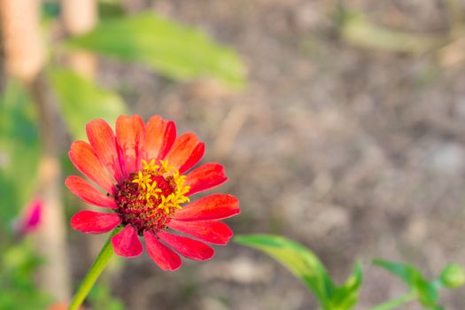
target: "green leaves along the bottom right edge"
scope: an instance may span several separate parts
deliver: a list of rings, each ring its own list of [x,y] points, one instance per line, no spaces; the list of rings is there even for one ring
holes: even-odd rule
[[[306,283],[308,289],[314,293],[322,309],[348,310],[357,304],[362,282],[360,263],[355,265],[347,281],[337,286],[313,252],[283,236],[236,236],[235,241],[267,253],[291,270],[291,273]],[[374,263],[399,276],[407,283],[410,291],[371,310],[391,310],[415,299],[426,309],[441,310],[443,307],[438,305],[439,289],[456,288],[465,283],[465,271],[456,264],[448,265],[438,280],[428,281],[416,267],[388,260],[375,260]]]

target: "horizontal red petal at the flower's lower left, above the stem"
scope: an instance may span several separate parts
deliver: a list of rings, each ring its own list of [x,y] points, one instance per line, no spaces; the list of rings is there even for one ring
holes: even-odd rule
[[[81,211],[71,218],[71,227],[83,233],[102,234],[114,229],[120,222],[117,213]]]

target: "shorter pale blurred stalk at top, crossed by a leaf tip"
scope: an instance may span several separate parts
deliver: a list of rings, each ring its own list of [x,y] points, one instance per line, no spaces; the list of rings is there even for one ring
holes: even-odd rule
[[[69,35],[83,35],[97,25],[96,0],[64,0],[63,23]],[[94,79],[97,72],[97,58],[86,50],[74,50],[67,58],[74,71]]]

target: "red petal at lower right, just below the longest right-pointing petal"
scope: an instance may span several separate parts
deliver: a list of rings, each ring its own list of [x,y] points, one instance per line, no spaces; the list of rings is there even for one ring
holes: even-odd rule
[[[168,227],[195,236],[210,244],[227,244],[233,232],[221,221],[176,221],[169,222]]]

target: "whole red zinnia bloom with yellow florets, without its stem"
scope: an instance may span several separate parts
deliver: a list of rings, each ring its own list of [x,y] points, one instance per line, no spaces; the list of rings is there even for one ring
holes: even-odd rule
[[[191,195],[226,181],[224,168],[215,163],[185,174],[204,156],[205,144],[197,136],[176,137],[173,121],[153,116],[144,124],[138,115],[120,116],[116,136],[105,120],[90,121],[86,131],[89,143],[74,142],[69,157],[106,193],[75,175],[66,179],[66,186],[82,200],[112,213],[76,213],[71,219],[74,229],[101,234],[122,226],[112,236],[114,252],[139,255],[143,236],[151,259],[165,270],[181,266],[180,257],[167,245],[191,260],[208,260],[214,253],[210,246],[167,229],[210,244],[228,242],[233,233],[218,220],[239,213],[236,198],[215,194],[184,205]]]

